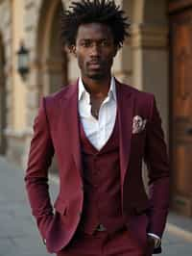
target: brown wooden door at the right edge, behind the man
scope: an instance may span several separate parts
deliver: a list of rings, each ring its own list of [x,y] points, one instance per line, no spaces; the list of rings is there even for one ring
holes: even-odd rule
[[[192,1],[171,1],[169,10],[172,206],[192,216]]]

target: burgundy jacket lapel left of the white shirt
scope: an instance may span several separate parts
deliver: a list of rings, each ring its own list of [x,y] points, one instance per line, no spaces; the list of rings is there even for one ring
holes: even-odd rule
[[[72,151],[77,169],[82,174],[82,159],[78,115],[78,83],[71,85],[61,100],[60,108],[62,114],[62,128],[65,133],[65,140]],[[68,148],[68,149],[69,149]]]

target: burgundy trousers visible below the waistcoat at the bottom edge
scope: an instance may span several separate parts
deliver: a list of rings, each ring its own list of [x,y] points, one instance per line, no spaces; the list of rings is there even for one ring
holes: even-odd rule
[[[78,233],[57,256],[151,256],[152,248],[138,244],[125,228],[113,235],[96,232],[93,235]]]

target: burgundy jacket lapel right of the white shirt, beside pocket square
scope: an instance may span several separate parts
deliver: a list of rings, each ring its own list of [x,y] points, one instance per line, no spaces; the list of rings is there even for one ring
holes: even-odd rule
[[[134,97],[132,90],[119,84],[117,85],[117,107],[119,112],[119,146],[120,146],[120,169],[121,186],[123,188],[126,170],[130,161],[131,140],[132,140],[132,116]],[[123,190],[122,190],[123,191]]]

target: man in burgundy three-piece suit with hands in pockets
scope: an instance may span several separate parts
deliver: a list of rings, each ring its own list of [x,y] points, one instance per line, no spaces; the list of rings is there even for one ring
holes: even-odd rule
[[[160,252],[169,167],[156,101],[111,75],[128,36],[127,19],[113,1],[84,0],[63,12],[61,25],[81,77],[43,98],[36,116],[25,181],[41,236],[58,256]],[[55,213],[47,184],[54,154],[60,179]]]

